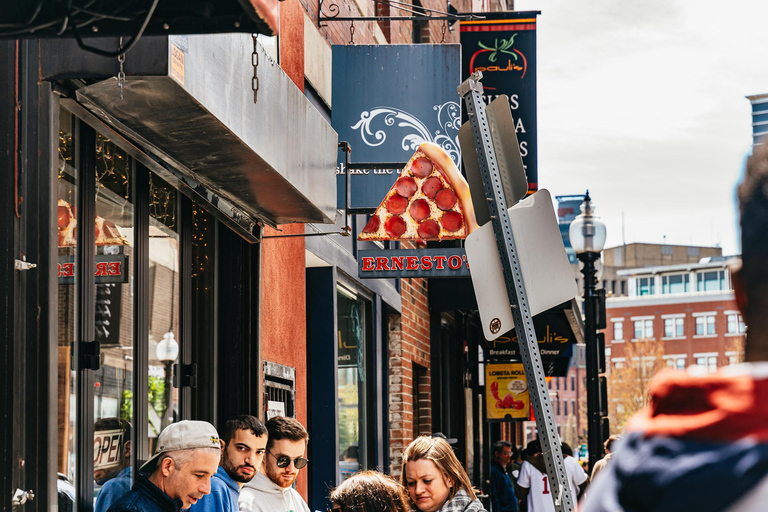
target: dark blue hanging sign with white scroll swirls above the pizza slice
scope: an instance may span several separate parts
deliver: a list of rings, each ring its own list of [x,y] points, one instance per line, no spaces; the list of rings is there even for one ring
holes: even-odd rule
[[[339,208],[349,172],[349,207],[373,212],[422,142],[434,142],[461,165],[460,45],[336,45],[333,77],[331,124],[357,164],[345,169],[339,152]]]

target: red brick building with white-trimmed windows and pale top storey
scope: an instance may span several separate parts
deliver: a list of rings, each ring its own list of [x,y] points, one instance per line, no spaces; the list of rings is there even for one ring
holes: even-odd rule
[[[610,367],[631,364],[624,347],[646,340],[662,341],[667,366],[681,370],[696,364],[713,372],[739,360],[745,325],[733,296],[727,258],[618,274],[628,279],[629,293],[607,301]]]

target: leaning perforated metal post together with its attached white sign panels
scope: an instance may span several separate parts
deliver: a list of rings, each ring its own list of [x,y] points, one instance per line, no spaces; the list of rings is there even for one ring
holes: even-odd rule
[[[532,307],[535,306],[536,308],[539,308],[543,303],[546,303],[550,299],[554,299],[554,297],[548,296],[550,290],[540,289],[548,286],[543,281],[546,279],[544,274],[548,272],[547,269],[539,268],[537,270],[534,268],[531,272],[526,270],[526,266],[529,268],[536,267],[537,262],[534,260],[537,258],[545,258],[546,254],[549,254],[550,252],[553,257],[554,253],[558,251],[565,257],[565,249],[563,248],[562,241],[560,241],[560,245],[557,246],[552,241],[551,236],[547,236],[549,227],[546,224],[548,221],[545,220],[546,214],[542,213],[545,208],[541,207],[543,201],[540,203],[539,198],[532,199],[530,201],[531,206],[526,204],[520,207],[520,211],[524,211],[524,213],[521,213],[523,218],[526,214],[532,213],[530,219],[533,219],[533,222],[541,223],[539,226],[542,230],[541,233],[530,233],[530,237],[524,237],[523,232],[520,231],[522,226],[517,225],[518,222],[523,222],[522,220],[518,220],[517,210],[514,210],[514,208],[508,209],[508,200],[510,203],[517,202],[518,198],[508,196],[517,195],[517,192],[514,190],[517,187],[513,185],[519,181],[519,176],[502,176],[499,170],[499,159],[497,158],[497,154],[503,154],[504,157],[501,160],[507,162],[509,162],[512,157],[519,157],[519,154],[515,155],[508,147],[508,145],[511,144],[514,144],[514,146],[517,147],[517,138],[514,134],[514,130],[506,130],[504,128],[505,126],[514,126],[514,124],[499,122],[498,119],[489,122],[488,117],[486,116],[485,103],[483,102],[483,86],[480,84],[481,78],[481,73],[473,73],[468,80],[459,86],[459,95],[462,96],[467,106],[467,114],[469,115],[468,124],[471,128],[474,148],[477,154],[477,166],[474,170],[471,165],[466,165],[465,167],[468,174],[479,171],[483,183],[482,194],[476,193],[476,189],[472,190],[472,202],[475,205],[484,202],[487,203],[487,211],[490,219],[490,226],[485,226],[486,232],[480,233],[483,228],[477,232],[480,241],[476,242],[479,244],[476,256],[482,258],[482,260],[478,260],[479,263],[474,263],[470,260],[469,270],[475,290],[480,290],[479,293],[476,293],[478,305],[480,305],[480,298],[488,293],[488,288],[485,287],[488,283],[486,281],[475,283],[475,279],[477,279],[477,276],[480,276],[481,280],[489,279],[487,275],[483,275],[485,272],[485,268],[483,268],[484,263],[490,265],[490,262],[495,259],[497,270],[499,267],[501,268],[501,277],[503,278],[504,287],[506,289],[506,296],[497,298],[496,300],[499,302],[496,302],[496,306],[506,308],[507,310],[511,309],[512,311],[513,323],[520,345],[520,355],[523,360],[528,387],[530,388],[531,404],[533,406],[534,415],[536,416],[536,427],[539,432],[539,440],[541,441],[544,463],[547,469],[547,476],[549,477],[550,488],[552,489],[552,500],[555,505],[555,510],[558,512],[571,512],[574,510],[574,500],[566,480],[563,454],[560,448],[560,438],[557,435],[555,427],[552,404],[549,401],[549,393],[544,377],[544,367],[541,362],[541,354],[539,353],[531,313]],[[496,118],[499,115],[509,115],[511,117],[512,114],[508,110],[504,112],[503,109],[491,112],[492,118]],[[510,131],[511,133],[509,133]],[[464,129],[464,132],[466,133],[466,129]],[[499,143],[505,147],[503,149],[496,149],[495,144]],[[462,149],[466,151],[464,148]],[[514,169],[522,170],[523,167],[522,165],[508,166],[506,171],[515,172]],[[468,181],[472,183],[472,180],[476,180],[476,178],[476,175],[468,176]],[[546,194],[546,201],[548,202],[549,210],[551,212],[552,199],[549,197],[548,193]],[[536,204],[540,205],[538,209],[535,206]],[[482,209],[476,206],[475,210]],[[536,213],[537,211],[538,213]],[[492,229],[488,230],[487,228],[489,227]],[[535,226],[530,227],[533,229]],[[556,221],[554,227],[557,229]],[[528,231],[526,228],[522,229],[526,232]],[[495,239],[495,252],[493,251],[493,244],[490,244],[489,247],[489,243],[487,242],[489,236],[488,233],[491,233],[491,236]],[[473,233],[473,235],[474,234],[475,233]],[[518,239],[518,236],[520,236],[521,239]],[[526,238],[526,240],[523,240],[523,238]],[[532,254],[532,246],[529,245],[526,247],[525,244],[531,243],[531,241],[535,244],[537,243],[537,240],[541,243],[541,247],[537,252]],[[470,253],[470,243],[470,240],[467,239],[468,257]],[[486,254],[480,254],[483,252]],[[524,274],[530,274],[528,276],[529,279],[526,279]],[[496,279],[498,280],[498,274]],[[570,274],[567,280],[571,281],[571,284],[573,285],[571,290],[575,292],[573,275]],[[553,295],[560,293],[559,290],[561,288],[563,293],[568,289],[565,282],[562,284],[559,282],[550,283],[550,285],[552,285],[553,290],[555,290],[555,292],[552,292]],[[551,305],[564,302],[565,300],[572,298],[573,295],[575,295],[575,293],[570,297],[565,297],[564,300],[557,300]],[[531,297],[536,301],[535,304],[531,302]],[[494,306],[494,308],[496,306]],[[496,309],[489,312],[488,310],[483,311],[483,306],[480,307],[480,315],[481,318],[484,319],[483,329],[485,329],[485,324],[487,323],[485,319],[488,318],[489,314],[492,315],[496,312]],[[501,315],[501,312],[499,312],[499,314]],[[493,318],[495,317],[491,316],[490,318],[491,324],[493,324],[489,325],[491,331],[497,330],[500,333],[506,332],[501,326],[501,316],[499,316],[499,325],[493,323]],[[509,320],[507,319],[506,321],[508,322]]]

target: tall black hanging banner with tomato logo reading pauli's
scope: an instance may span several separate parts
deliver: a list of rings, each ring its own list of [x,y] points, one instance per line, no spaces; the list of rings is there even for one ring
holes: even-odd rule
[[[539,189],[536,120],[536,16],[538,11],[485,13],[461,21],[462,78],[483,73],[486,104],[509,96],[528,194]]]

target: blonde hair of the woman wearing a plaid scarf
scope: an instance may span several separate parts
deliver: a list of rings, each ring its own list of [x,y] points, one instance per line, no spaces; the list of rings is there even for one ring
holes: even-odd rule
[[[403,452],[403,467],[401,471],[401,481],[405,487],[408,486],[408,479],[405,476],[405,465],[412,461],[420,459],[431,460],[443,477],[453,483],[448,500],[452,500],[459,489],[464,489],[469,494],[472,501],[477,499],[475,491],[472,490],[472,483],[464,467],[456,458],[453,449],[448,442],[440,437],[421,436],[414,439],[408,448]]]

